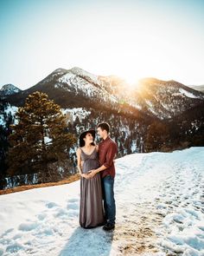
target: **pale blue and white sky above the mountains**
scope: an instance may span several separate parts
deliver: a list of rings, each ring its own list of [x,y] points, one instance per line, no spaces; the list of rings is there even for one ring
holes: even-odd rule
[[[0,0],[0,88],[54,69],[204,84],[203,0]]]

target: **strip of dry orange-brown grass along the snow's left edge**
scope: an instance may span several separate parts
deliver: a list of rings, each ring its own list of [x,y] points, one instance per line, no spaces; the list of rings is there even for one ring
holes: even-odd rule
[[[80,174],[73,174],[69,178],[63,181],[58,181],[58,182],[48,182],[48,183],[41,183],[41,184],[35,184],[35,185],[24,185],[20,187],[14,187],[14,188],[8,188],[8,189],[3,189],[0,190],[0,194],[10,194],[10,193],[15,193],[15,192],[20,192],[28,189],[33,189],[37,187],[51,187],[51,186],[59,186],[67,183],[71,183],[73,181],[78,181],[80,180]]]

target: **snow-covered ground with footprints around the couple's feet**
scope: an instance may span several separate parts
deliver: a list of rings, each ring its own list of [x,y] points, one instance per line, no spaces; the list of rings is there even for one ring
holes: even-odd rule
[[[79,226],[80,181],[0,196],[0,255],[204,255],[204,148],[116,161],[114,232]]]

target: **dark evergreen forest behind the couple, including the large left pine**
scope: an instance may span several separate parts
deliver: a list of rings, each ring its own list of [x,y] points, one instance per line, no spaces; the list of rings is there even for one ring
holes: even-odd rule
[[[197,118],[200,123],[195,122],[192,129],[191,119],[187,121],[189,115],[168,122],[135,118],[118,113],[117,109],[110,112],[92,108],[90,115],[81,119],[76,116],[71,121],[62,114],[61,106],[39,91],[29,95],[24,106],[18,108],[15,123],[13,115],[4,114],[4,108],[5,102],[0,104],[5,120],[5,125],[0,125],[0,189],[6,187],[8,179],[15,187],[61,181],[75,173],[76,135],[96,128],[101,121],[108,121],[111,126],[111,137],[118,143],[118,157],[204,144],[204,121]]]

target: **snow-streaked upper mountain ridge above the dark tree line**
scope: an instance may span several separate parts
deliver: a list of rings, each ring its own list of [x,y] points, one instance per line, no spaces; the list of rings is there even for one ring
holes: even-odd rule
[[[80,69],[56,69],[35,86],[8,96],[22,106],[36,90],[48,94],[62,108],[104,108],[133,116],[166,120],[204,102],[204,94],[175,81],[146,78],[130,87],[117,76],[92,75]]]

